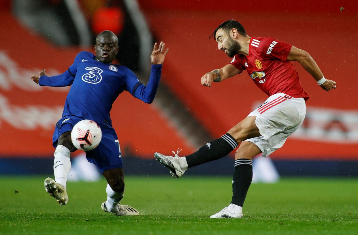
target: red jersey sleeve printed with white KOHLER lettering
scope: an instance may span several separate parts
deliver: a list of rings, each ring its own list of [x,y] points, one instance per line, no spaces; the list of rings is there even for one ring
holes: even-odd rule
[[[292,45],[274,38],[261,39],[262,44],[262,58],[263,59],[279,59],[282,61],[287,60]]]

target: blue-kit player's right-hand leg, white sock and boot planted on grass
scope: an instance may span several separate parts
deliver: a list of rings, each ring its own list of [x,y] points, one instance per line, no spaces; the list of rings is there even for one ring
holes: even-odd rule
[[[102,210],[113,215],[139,215],[139,212],[133,207],[119,203],[124,197],[126,189],[123,168],[103,171],[103,176],[105,176],[108,184],[106,188],[107,201],[102,203]]]

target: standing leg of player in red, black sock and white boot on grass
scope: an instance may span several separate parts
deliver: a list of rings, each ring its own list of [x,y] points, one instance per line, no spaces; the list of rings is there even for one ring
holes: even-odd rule
[[[231,203],[210,218],[242,218],[242,205],[252,181],[252,158],[260,152],[254,143],[242,141],[235,153]]]

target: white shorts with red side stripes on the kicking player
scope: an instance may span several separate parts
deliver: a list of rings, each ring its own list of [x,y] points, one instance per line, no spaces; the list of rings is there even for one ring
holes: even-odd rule
[[[262,151],[262,156],[284,145],[287,137],[302,124],[306,115],[303,98],[293,98],[283,93],[271,95],[261,106],[247,116],[256,116],[256,126],[261,136],[247,139]]]

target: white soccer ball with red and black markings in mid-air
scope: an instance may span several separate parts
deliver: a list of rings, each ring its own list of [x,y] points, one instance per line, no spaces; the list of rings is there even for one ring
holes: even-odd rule
[[[92,120],[82,120],[71,131],[72,144],[80,150],[89,151],[97,147],[102,139],[100,126]]]

